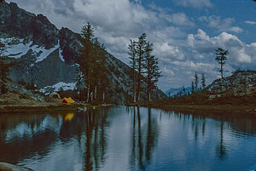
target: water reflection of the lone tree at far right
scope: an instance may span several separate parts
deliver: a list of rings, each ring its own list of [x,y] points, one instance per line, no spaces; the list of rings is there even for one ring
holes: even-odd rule
[[[224,146],[224,122],[220,124],[220,141],[219,145],[216,146],[216,153],[220,160],[224,160],[227,157],[227,150]]]

